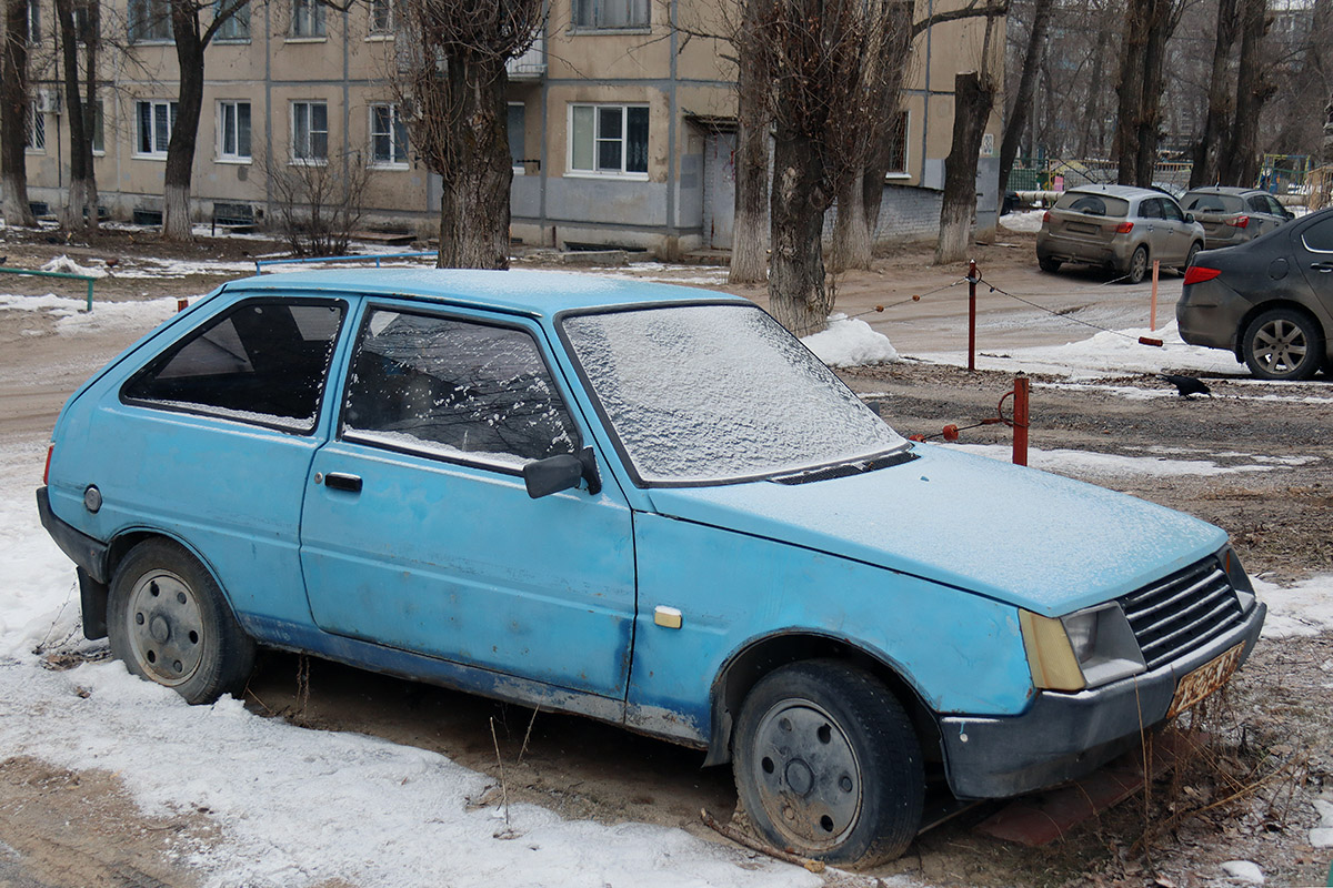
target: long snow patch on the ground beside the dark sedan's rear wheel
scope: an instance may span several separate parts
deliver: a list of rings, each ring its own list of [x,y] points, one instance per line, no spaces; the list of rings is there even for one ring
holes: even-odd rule
[[[1161,347],[1141,345],[1138,337],[1157,338],[1164,345]],[[940,351],[916,357],[953,366],[966,366],[968,362],[965,351]],[[1010,349],[1005,354],[978,351],[977,367],[1006,373],[1018,370],[1044,373],[1072,379],[1096,379],[1130,373],[1165,373],[1168,370],[1236,377],[1249,373],[1245,365],[1236,363],[1236,357],[1229,351],[1186,345],[1180,338],[1174,321],[1157,330],[1133,328],[1101,332],[1088,339],[1066,342],[1065,345]]]

